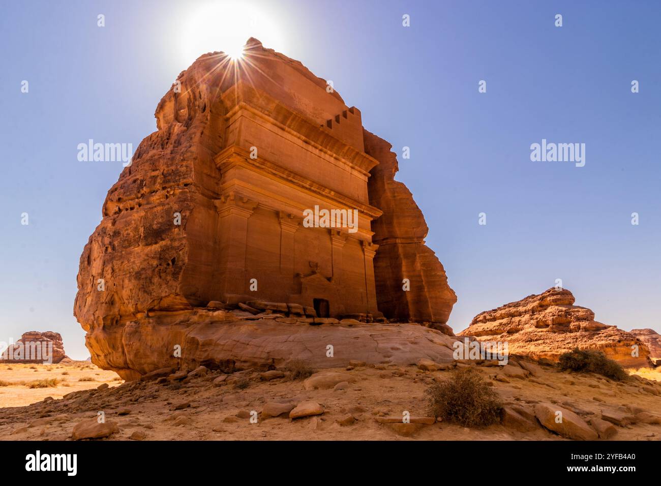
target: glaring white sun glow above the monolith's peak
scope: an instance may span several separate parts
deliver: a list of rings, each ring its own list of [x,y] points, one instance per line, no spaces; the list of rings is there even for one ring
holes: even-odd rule
[[[286,50],[284,36],[268,4],[247,0],[209,1],[196,7],[184,22],[180,45],[187,63],[214,51],[241,60],[245,42],[251,37],[268,48]]]

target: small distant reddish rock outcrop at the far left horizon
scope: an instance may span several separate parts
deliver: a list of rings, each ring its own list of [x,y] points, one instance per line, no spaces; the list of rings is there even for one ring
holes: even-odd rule
[[[59,333],[29,331],[11,344],[0,356],[5,363],[59,363],[67,355]]]

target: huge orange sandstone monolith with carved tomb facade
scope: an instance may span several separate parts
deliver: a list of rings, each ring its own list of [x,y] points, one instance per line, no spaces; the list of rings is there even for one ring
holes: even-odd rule
[[[275,303],[267,313],[330,319],[315,325],[385,316],[451,334],[456,297],[424,245],[418,206],[393,180],[390,145],[299,61],[254,39],[243,60],[205,54],[180,73],[155,116],[157,132],[108,191],[81,255],[74,315],[95,364],[132,378],[182,360],[264,364],[319,339],[322,331],[290,326],[295,319],[265,321],[276,328],[268,338],[255,323],[212,324],[210,307],[241,305],[252,315],[261,309],[251,304],[264,301]],[[312,208],[342,224],[319,218],[310,227]],[[359,333],[346,329],[327,332],[340,341]],[[401,329],[407,339],[428,336]],[[172,346],[184,341],[192,347],[177,361]],[[383,354],[371,337],[364,343],[372,359]],[[347,359],[364,354],[355,352]]]

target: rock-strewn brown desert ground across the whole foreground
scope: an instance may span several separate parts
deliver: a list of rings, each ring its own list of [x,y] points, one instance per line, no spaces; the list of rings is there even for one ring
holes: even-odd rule
[[[600,423],[611,429],[611,440],[661,437],[658,369],[637,370],[631,380],[613,382],[527,360],[511,359],[510,368],[492,364],[359,363],[299,380],[278,370],[225,375],[198,369],[126,383],[89,362],[3,365],[0,380],[12,384],[0,387],[0,436],[71,440],[75,425],[96,424],[102,411],[113,432],[99,440],[565,440],[539,423],[525,430],[529,422],[518,419],[465,428],[423,418],[428,415],[425,390],[447,380],[455,366],[473,366],[506,407],[524,416],[534,413],[538,403],[550,403],[586,422],[605,419]],[[87,377],[97,381],[79,381]],[[26,386],[52,378],[60,380],[54,387]],[[267,411],[289,410],[302,402],[318,405],[312,413],[319,415],[290,419],[287,411],[267,417]],[[410,424],[401,423],[405,411]]]

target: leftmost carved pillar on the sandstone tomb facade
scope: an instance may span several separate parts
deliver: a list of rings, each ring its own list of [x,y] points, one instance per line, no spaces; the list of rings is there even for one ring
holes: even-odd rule
[[[224,194],[215,201],[218,212],[220,236],[221,288],[223,294],[245,294],[246,243],[248,218],[251,217],[257,202],[237,192]]]

